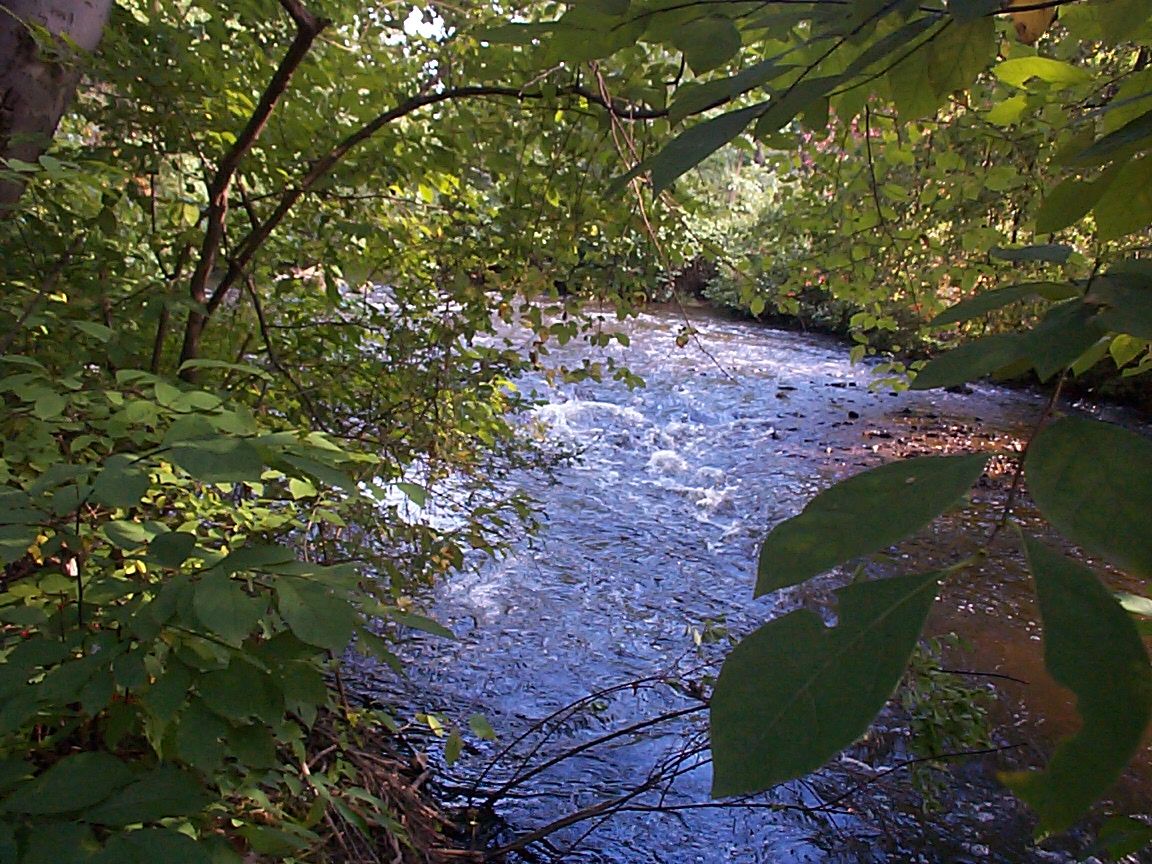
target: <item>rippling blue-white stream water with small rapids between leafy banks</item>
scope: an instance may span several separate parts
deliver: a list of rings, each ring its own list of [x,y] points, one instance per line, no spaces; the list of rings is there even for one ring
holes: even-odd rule
[[[645,379],[643,388],[535,385],[546,403],[526,422],[578,453],[553,477],[520,478],[539,500],[545,528],[506,559],[438,590],[432,613],[455,642],[407,645],[401,698],[444,710],[462,726],[483,713],[499,734],[495,743],[469,745],[447,771],[445,794],[469,803],[470,788],[483,790],[476,803],[499,791],[494,810],[506,829],[490,838],[497,846],[592,812],[513,859],[1068,859],[1029,844],[1026,816],[980,768],[955,781],[942,816],[922,817],[908,804],[904,772],[820,809],[882,770],[892,752],[857,750],[771,796],[708,803],[695,688],[715,673],[727,634],[801,604],[816,607],[836,584],[823,577],[753,600],[757,547],[768,528],[863,467],[912,453],[1009,452],[1026,438],[1043,400],[980,386],[968,394],[872,392],[867,369],[850,365],[832,340],[705,317],[692,321],[698,339],[677,347],[683,323],[679,312],[657,311],[619,325],[631,344],[612,350]],[[602,356],[560,349],[570,366],[585,354]],[[927,567],[967,554],[964,536],[995,518],[995,500],[977,488],[961,517],[911,544],[888,571],[915,571],[922,555]],[[977,586],[960,586],[932,627],[967,630],[976,643],[969,664],[1040,675],[1018,561],[993,577],[995,604]],[[384,673],[359,668],[354,677],[362,691],[397,698]],[[1061,698],[1058,718],[1068,710]],[[666,714],[676,717],[645,726]],[[1009,712],[1006,722],[1028,718]],[[650,790],[628,797],[646,780]]]

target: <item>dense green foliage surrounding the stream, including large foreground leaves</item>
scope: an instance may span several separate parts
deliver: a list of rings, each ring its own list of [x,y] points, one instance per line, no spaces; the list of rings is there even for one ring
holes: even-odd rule
[[[544,457],[515,377],[551,340],[617,338],[591,298],[627,314],[704,256],[714,291],[832,310],[861,354],[976,336],[894,361],[917,387],[1152,365],[1147,5],[999,6],[121,0],[90,54],[53,3],[0,3],[0,44],[60,92],[84,73],[51,149],[0,127],[0,858],[402,834],[351,760],[312,770],[389,722],[343,700],[339,658],[399,665],[401,628],[438,631],[419,588],[530,526],[491,483]],[[1056,529],[1152,574],[1144,438],[1056,419],[1021,461]],[[757,591],[889,546],[984,465],[841,483],[770,535]],[[462,526],[404,518],[445,487]],[[1061,831],[1138,746],[1152,672],[1091,570],[1022,543],[1084,723],[1005,781]],[[863,733],[978,559],[745,639],[713,696],[715,793]]]

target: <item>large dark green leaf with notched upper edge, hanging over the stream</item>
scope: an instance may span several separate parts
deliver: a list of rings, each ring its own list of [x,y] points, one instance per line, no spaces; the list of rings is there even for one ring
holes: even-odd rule
[[[900,682],[938,581],[848,585],[836,627],[801,609],[744,638],[712,694],[713,797],[803,776],[863,735]]]

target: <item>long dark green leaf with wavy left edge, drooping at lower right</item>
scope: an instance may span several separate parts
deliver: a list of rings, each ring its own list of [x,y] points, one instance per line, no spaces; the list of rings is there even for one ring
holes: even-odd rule
[[[1127,613],[1083,564],[1024,539],[1044,620],[1048,672],[1076,695],[1082,726],[1046,770],[1003,781],[1037,811],[1040,831],[1071,827],[1120,776],[1152,717],[1152,667]]]

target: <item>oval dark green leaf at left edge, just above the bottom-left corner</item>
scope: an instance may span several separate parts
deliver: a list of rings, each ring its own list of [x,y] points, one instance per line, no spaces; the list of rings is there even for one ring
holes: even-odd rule
[[[131,781],[128,766],[109,753],[75,753],[18,787],[0,802],[0,811],[29,816],[70,813],[100,803]]]

